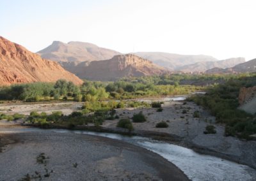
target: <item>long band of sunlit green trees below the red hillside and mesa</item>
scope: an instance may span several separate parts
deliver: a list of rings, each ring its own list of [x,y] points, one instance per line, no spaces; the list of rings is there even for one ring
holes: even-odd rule
[[[66,80],[58,80],[56,83],[24,83],[0,87],[0,100],[26,102],[51,100],[97,101],[189,94],[189,92],[204,89],[204,87],[196,87],[195,85],[188,85],[188,83],[180,85],[177,83],[180,80],[180,75],[166,75],[124,78],[116,82],[86,81],[80,87]]]

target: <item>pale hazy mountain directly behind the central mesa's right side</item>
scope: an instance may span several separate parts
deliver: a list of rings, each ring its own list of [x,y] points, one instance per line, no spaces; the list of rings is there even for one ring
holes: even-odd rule
[[[154,62],[154,64],[163,66],[172,71],[177,70],[177,68],[181,66],[194,64],[196,62],[218,61],[218,59],[207,55],[179,55],[164,52],[134,52],[132,54],[148,59]]]

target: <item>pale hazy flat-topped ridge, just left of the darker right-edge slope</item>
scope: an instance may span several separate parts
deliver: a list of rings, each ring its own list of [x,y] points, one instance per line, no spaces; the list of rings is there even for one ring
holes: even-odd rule
[[[211,68],[230,68],[237,64],[245,62],[242,57],[226,59],[223,61],[211,61],[211,62],[196,62],[195,64],[188,64],[176,68],[177,71],[189,72],[189,71],[200,71],[204,72]]]

